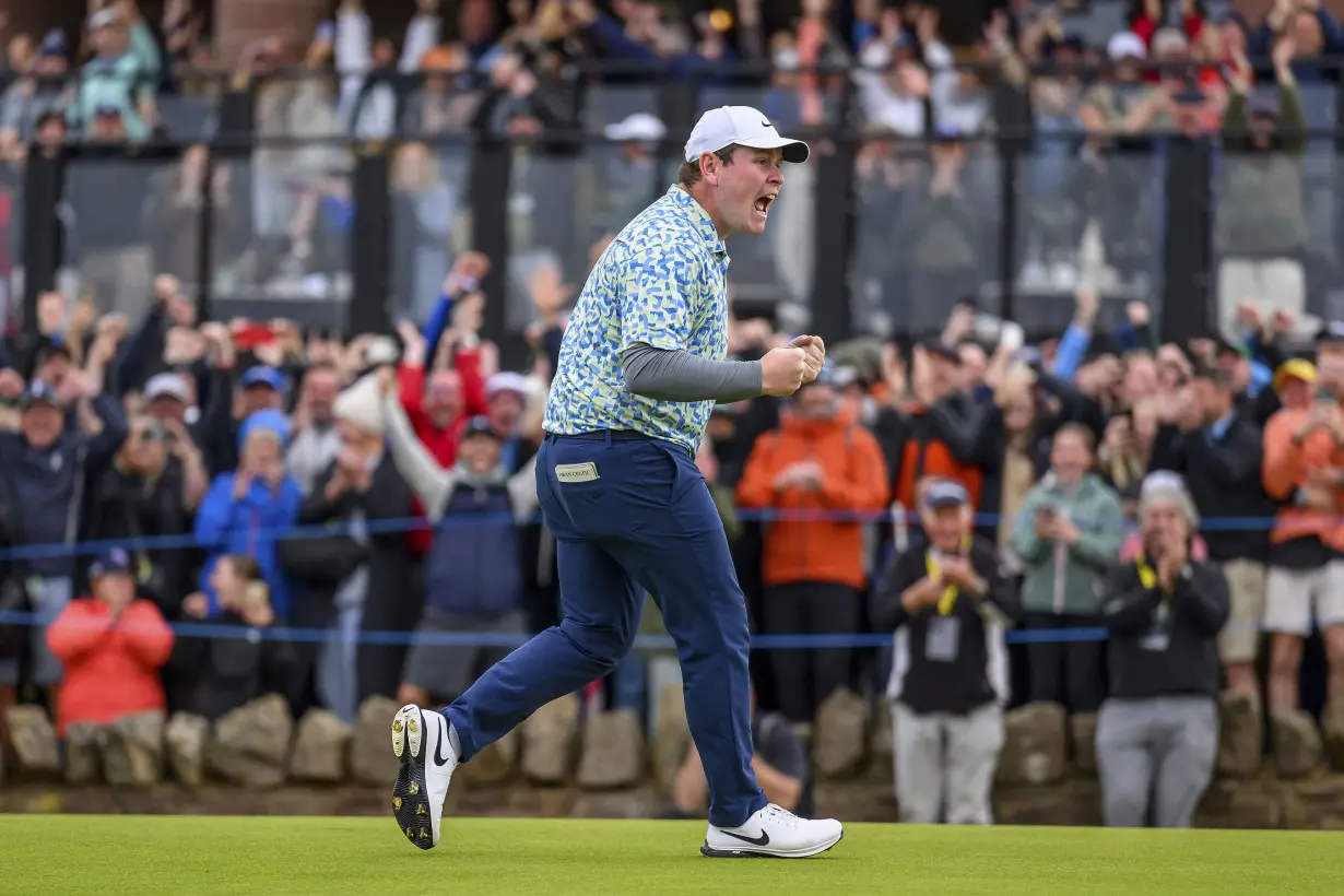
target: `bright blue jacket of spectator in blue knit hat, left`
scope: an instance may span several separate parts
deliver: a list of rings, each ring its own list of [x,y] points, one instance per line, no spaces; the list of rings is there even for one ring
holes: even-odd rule
[[[208,553],[200,571],[200,590],[210,598],[211,615],[218,614],[219,603],[210,587],[215,563],[227,553],[246,553],[257,560],[262,578],[270,586],[276,618],[288,619],[290,586],[276,560],[276,545],[297,524],[298,504],[304,494],[298,482],[286,476],[278,493],[254,480],[247,494],[241,501],[234,501],[234,476],[216,476],[196,510],[196,541]]]

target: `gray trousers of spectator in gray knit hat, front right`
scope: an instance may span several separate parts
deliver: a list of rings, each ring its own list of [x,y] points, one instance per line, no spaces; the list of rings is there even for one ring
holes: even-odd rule
[[[1214,776],[1218,704],[1210,697],[1107,700],[1097,719],[1097,771],[1109,827],[1189,827]]]

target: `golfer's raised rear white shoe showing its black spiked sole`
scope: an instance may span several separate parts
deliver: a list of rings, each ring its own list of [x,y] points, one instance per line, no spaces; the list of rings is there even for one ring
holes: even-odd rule
[[[415,704],[406,704],[392,716],[392,752],[402,763],[392,786],[396,826],[406,840],[431,849],[438,844],[444,798],[457,768],[448,719],[441,712],[421,712]]]

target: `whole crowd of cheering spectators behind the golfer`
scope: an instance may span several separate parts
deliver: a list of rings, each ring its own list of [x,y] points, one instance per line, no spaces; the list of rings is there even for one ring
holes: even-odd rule
[[[805,732],[839,689],[894,701],[896,752],[909,763],[898,767],[902,810],[969,822],[989,819],[1005,704],[1101,711],[1107,818],[1142,823],[1146,801],[1125,795],[1144,789],[1144,768],[1169,760],[1179,786],[1152,811],[1160,823],[1188,823],[1212,767],[1208,737],[1218,736],[1206,709],[1222,689],[1263,703],[1267,715],[1301,711],[1304,680],[1313,708],[1344,700],[1344,325],[1313,322],[1306,287],[1298,290],[1310,279],[1302,253],[1317,231],[1308,226],[1310,172],[1294,154],[1305,149],[1292,130],[1301,91],[1328,74],[1321,56],[1336,40],[1333,20],[1288,0],[1254,27],[1210,19],[1202,4],[1145,3],[1132,31],[1109,39],[1106,74],[1085,81],[1064,63],[1098,48],[1030,4],[986,23],[974,52],[992,64],[980,74],[953,67],[937,13],[918,4],[859,3],[849,38],[836,34],[824,0],[804,3],[796,23],[770,34],[765,5],[743,0],[727,21],[680,28],[641,0],[616,3],[612,15],[586,1],[515,3],[511,23],[466,0],[445,40],[438,3],[422,0],[398,51],[374,40],[362,4],[345,0],[304,56],[313,77],[266,79],[284,48],[250,48],[239,78],[258,81],[259,133],[422,136],[401,144],[394,161],[398,208],[418,228],[417,239],[398,240],[407,261],[396,296],[409,317],[395,336],[199,320],[194,262],[175,236],[200,199],[203,149],[164,184],[120,187],[148,199],[153,239],[114,212],[90,227],[102,200],[81,204],[73,181],[66,204],[79,207],[62,220],[67,244],[78,246],[75,279],[42,296],[38,336],[11,334],[0,357],[0,609],[36,619],[0,626],[0,707],[47,703],[63,729],[159,707],[218,719],[277,692],[296,715],[325,707],[352,719],[372,695],[452,700],[499,654],[435,645],[435,635],[524,635],[555,623],[554,540],[535,514],[530,461],[569,283],[582,282],[590,251],[656,195],[649,189],[665,189],[657,145],[673,137],[650,106],[574,118],[562,86],[593,55],[659,58],[667,77],[708,82],[719,60],[770,60],[770,85],[746,95],[781,129],[835,114],[833,77],[814,66],[857,59],[872,69],[856,75],[872,140],[856,172],[855,269],[856,281],[876,283],[879,301],[860,316],[875,336],[832,345],[825,373],[793,399],[719,406],[698,463],[758,633],[892,634],[892,647],[762,652],[754,673],[766,709]],[[173,8],[172,21],[190,19]],[[185,86],[169,63],[190,58],[191,44],[165,51],[163,30],[134,4],[98,11],[89,28],[95,56],[74,93],[48,97],[20,79],[7,94],[4,121],[16,124],[0,132],[9,177],[0,189],[32,148],[108,138],[113,132],[98,129],[113,120],[116,138],[144,137],[163,122],[155,95],[165,83]],[[74,62],[59,35],[40,47],[39,73],[55,71],[56,56]],[[1195,77],[1145,69],[1150,54],[1191,59]],[[1038,62],[1062,67],[1028,79],[1023,66]],[[23,54],[9,64],[30,71]],[[156,74],[144,90],[99,98],[99,79],[122,67]],[[405,81],[398,70],[425,77]],[[1058,337],[1034,345],[1023,344],[1021,326],[966,301],[996,227],[976,192],[988,188],[974,163],[986,144],[973,140],[993,129],[991,79],[1016,83],[1043,130],[1074,141],[1068,156],[1042,149],[1038,161],[1067,164],[1034,165],[1024,187],[1040,200],[1030,203],[1031,253],[1044,253],[1047,267],[1086,261],[1085,231],[1083,243],[1102,247],[1089,277],[1046,271],[1074,312]],[[1257,79],[1277,90],[1278,106],[1253,98]],[[728,75],[720,87],[743,95]],[[38,97],[50,105],[32,114]],[[11,102],[20,102],[13,117]],[[931,118],[917,121],[917,106]],[[618,145],[598,169],[613,189],[582,200],[601,204],[583,218],[591,227],[574,227],[569,206],[585,192],[575,177],[556,180],[546,164],[564,149],[528,144],[515,150],[528,159],[509,197],[515,254],[472,251],[458,236],[465,157],[434,136],[571,124],[609,128]],[[1246,145],[1219,175],[1231,211],[1215,227],[1224,287],[1210,339],[1161,344],[1150,292],[1121,306],[1118,325],[1103,325],[1102,294],[1120,282],[1152,287],[1140,277],[1152,257],[1134,246],[1144,228],[1133,222],[1160,181],[1126,180],[1150,163],[1144,140],[1156,128],[1189,134],[1219,124]],[[923,134],[933,136],[927,157],[913,156]],[[216,231],[238,249],[230,263],[249,266],[254,282],[288,271],[309,294],[328,294],[313,278],[340,266],[332,247],[348,215],[348,163],[344,149],[313,144],[215,167],[216,214],[235,222]],[[808,175],[789,177],[804,196],[793,214],[806,216]],[[1068,218],[1087,207],[1079,196],[1098,195],[1116,218]],[[16,220],[13,204],[0,206],[11,247]],[[780,240],[765,251],[781,298],[808,279],[796,224],[786,214],[762,240]],[[1054,250],[1064,254],[1051,258]],[[13,258],[0,254],[0,263]],[[499,347],[481,333],[492,263],[508,267],[503,301],[531,347],[516,371],[500,369]],[[758,357],[788,340],[782,312],[755,317],[735,302],[732,356]],[[884,337],[883,318],[899,316],[900,333],[921,339]],[[331,523],[343,525],[321,528]],[[319,533],[286,537],[298,527]],[[128,618],[142,637],[122,630]],[[239,634],[173,637],[168,627],[202,621]],[[329,638],[245,637],[274,625]],[[1016,652],[1003,643],[1009,625],[1105,626],[1113,635],[1044,638]],[[1317,643],[1317,629],[1328,670],[1304,678],[1304,645]],[[650,602],[644,631],[660,630]],[[360,637],[371,631],[402,633],[405,643]],[[1154,654],[1164,674],[1136,676]],[[675,676],[668,657],[634,656],[599,685],[594,705],[653,719],[660,676]],[[1189,748],[1140,755],[1154,732]],[[919,742],[941,737],[968,750],[921,752]],[[689,766],[681,785],[688,811],[703,799]]]

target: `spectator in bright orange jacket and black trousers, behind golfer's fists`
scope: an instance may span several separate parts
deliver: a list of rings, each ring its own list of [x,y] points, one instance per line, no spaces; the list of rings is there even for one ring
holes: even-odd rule
[[[840,412],[833,371],[824,368],[794,395],[780,429],[757,439],[738,484],[743,508],[781,514],[765,531],[763,633],[859,631],[868,584],[862,517],[887,506],[887,489],[878,439]],[[773,652],[780,709],[810,723],[848,682],[852,658],[843,649]]]

